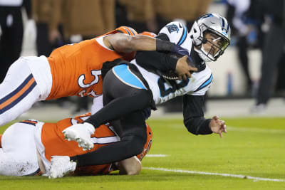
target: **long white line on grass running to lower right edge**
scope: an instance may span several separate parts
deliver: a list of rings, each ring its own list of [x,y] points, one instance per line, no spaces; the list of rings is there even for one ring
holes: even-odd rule
[[[276,181],[276,182],[285,182],[285,179],[271,179],[271,178],[263,178],[263,177],[255,177],[255,176],[244,176],[241,174],[219,174],[219,173],[211,173],[204,171],[189,171],[182,169],[166,169],[166,168],[156,168],[156,167],[142,167],[142,169],[150,169],[157,171],[172,171],[175,173],[187,173],[187,174],[201,174],[201,175],[212,175],[212,176],[229,176],[240,179],[253,179],[254,181]]]

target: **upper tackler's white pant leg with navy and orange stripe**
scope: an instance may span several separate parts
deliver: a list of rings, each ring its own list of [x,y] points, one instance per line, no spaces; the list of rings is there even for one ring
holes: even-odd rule
[[[40,89],[26,59],[19,58],[0,84],[0,126],[30,109],[40,96]]]

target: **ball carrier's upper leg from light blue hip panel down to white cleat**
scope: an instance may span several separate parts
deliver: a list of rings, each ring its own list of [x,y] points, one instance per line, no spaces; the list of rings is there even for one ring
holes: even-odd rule
[[[122,67],[120,67],[122,66]],[[119,70],[116,70],[116,68]],[[93,148],[90,134],[94,128],[152,105],[152,95],[127,65],[109,70],[103,82],[104,107],[86,120],[86,125],[73,125],[63,130],[68,140],[75,140],[83,149]],[[92,125],[88,125],[92,124]]]

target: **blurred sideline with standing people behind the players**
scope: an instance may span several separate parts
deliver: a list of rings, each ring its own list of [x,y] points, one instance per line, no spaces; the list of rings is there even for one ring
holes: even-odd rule
[[[54,48],[118,26],[158,33],[179,20],[190,31],[199,16],[213,12],[228,19],[232,41],[219,60],[208,63],[214,83],[206,114],[285,116],[284,10],[284,0],[0,0],[0,83],[19,56],[49,56]],[[63,118],[88,111],[91,103],[88,97],[39,102],[21,117],[40,120],[48,110],[48,117]],[[153,115],[180,112],[182,97],[177,97]]]

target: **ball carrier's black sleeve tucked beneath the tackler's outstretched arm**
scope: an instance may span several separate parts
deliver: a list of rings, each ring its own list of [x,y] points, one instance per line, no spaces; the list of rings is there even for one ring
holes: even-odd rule
[[[135,57],[138,65],[151,70],[175,70],[177,59],[157,51],[140,51]]]

